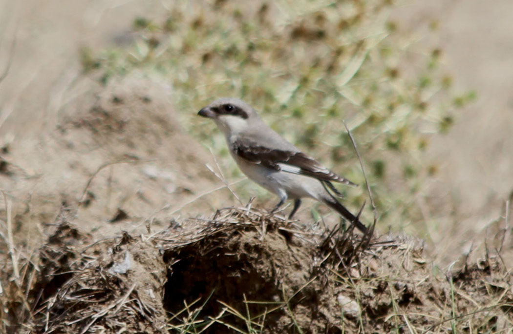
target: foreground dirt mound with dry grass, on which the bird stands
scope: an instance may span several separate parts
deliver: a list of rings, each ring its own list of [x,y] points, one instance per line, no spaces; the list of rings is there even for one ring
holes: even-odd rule
[[[96,242],[72,220],[63,210],[41,249],[25,321],[37,332],[482,332],[513,321],[498,257],[442,274],[417,240],[369,242],[249,206]]]

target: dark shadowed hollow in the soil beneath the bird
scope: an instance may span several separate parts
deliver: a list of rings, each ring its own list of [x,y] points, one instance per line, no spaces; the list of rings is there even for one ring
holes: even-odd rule
[[[244,253],[240,253],[239,248],[243,249]],[[255,245],[241,245],[235,241],[227,245],[214,246],[206,254],[201,254],[200,247],[195,244],[186,246],[177,253],[167,252],[165,261],[180,260],[170,266],[165,285],[164,308],[175,315],[184,308],[184,301],[191,304],[200,299],[193,307],[205,303],[199,319],[219,315],[224,308],[220,301],[239,311],[248,310],[250,315],[263,314],[272,305],[246,305],[244,298],[248,301],[269,302],[280,296],[281,292],[273,281],[274,276],[262,275],[248,256],[252,254],[266,257],[265,251],[258,248]],[[243,314],[246,316],[246,312]],[[266,316],[266,326],[274,327],[283,315],[283,310],[273,311]],[[246,329],[244,321],[235,316],[228,315],[223,321]],[[206,333],[226,333],[226,327],[214,324]]]

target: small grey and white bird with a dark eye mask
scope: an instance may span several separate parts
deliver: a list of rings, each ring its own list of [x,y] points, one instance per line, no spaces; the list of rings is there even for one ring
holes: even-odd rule
[[[328,191],[329,188],[337,196],[342,196],[332,182],[356,184],[301,152],[269,128],[246,102],[236,98],[216,99],[202,108],[198,115],[212,119],[223,132],[230,155],[241,171],[279,197],[280,201],[271,213],[291,199],[294,206],[288,218],[292,219],[301,199],[309,197],[337,211],[362,233],[367,232],[367,227]]]

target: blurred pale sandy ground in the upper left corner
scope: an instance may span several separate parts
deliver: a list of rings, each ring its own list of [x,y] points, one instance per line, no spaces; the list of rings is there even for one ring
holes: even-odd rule
[[[69,99],[63,91],[81,72],[80,47],[123,43],[134,17],[159,11],[159,1],[0,2],[2,68],[15,39],[0,92],[0,133],[20,137],[52,129]]]

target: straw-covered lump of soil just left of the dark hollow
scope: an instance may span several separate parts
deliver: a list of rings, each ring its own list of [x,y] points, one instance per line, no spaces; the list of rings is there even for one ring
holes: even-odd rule
[[[33,294],[41,304],[37,332],[161,332],[165,282],[159,249],[129,234],[91,243],[65,215],[41,249]],[[45,315],[41,318],[41,315]]]

